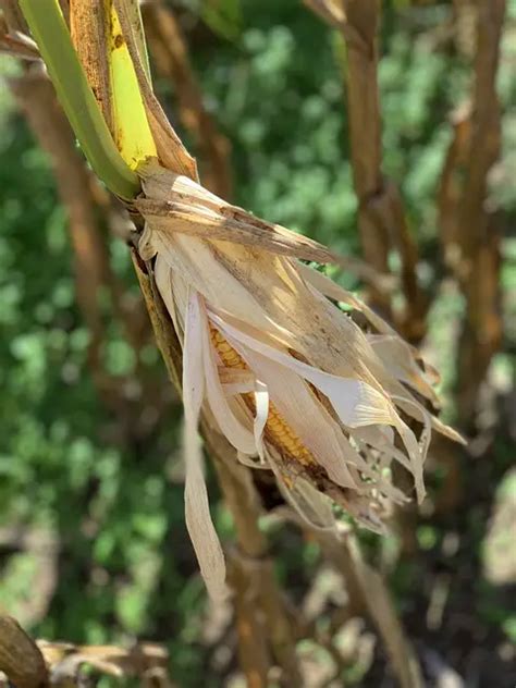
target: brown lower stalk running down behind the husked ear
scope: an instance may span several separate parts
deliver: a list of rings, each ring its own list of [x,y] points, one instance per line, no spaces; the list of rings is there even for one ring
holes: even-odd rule
[[[151,265],[144,265],[136,251],[133,262],[170,379],[181,392],[182,351],[177,334],[159,295]],[[267,540],[258,526],[261,505],[249,470],[237,463],[235,451],[206,411],[201,433],[235,523],[237,548],[230,557],[230,583],[235,594],[238,651],[247,680],[254,686],[268,685],[270,650],[284,675],[295,679],[292,685],[300,685],[294,632],[268,557]]]

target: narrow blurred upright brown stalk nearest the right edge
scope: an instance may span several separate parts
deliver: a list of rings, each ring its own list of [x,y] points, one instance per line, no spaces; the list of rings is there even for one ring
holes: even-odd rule
[[[488,175],[500,155],[501,120],[496,93],[500,39],[505,0],[478,0],[471,138],[463,198],[457,214],[460,233],[460,282],[467,314],[459,344],[458,413],[469,422],[479,388],[500,346],[500,236],[487,208]],[[475,376],[471,374],[475,370]]]

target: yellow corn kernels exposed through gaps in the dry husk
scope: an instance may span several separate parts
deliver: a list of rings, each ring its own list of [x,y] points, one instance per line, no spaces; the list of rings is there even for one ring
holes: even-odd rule
[[[222,364],[226,368],[238,368],[245,370],[247,364],[243,360],[242,356],[235,352],[235,349],[226,342],[222,333],[210,324],[211,342],[220,356]],[[254,411],[255,400],[253,394],[243,394],[246,404]],[[281,414],[274,406],[269,406],[269,417],[267,418],[266,437],[269,441],[288,454],[292,458],[298,460],[300,464],[315,464],[314,456],[310,451],[303,444],[297,434],[290,428],[290,426],[283,420]]]

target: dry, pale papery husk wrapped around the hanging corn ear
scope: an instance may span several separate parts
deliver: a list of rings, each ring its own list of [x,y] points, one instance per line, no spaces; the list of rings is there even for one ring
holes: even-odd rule
[[[435,373],[418,352],[298,261],[332,261],[324,247],[156,163],[142,177],[139,249],[157,256],[158,287],[184,337],[188,528],[210,592],[221,592],[223,563],[200,488],[202,400],[242,460],[273,470],[314,527],[332,527],[336,503],[381,531],[388,504],[406,500],[390,482],[393,460],[413,475],[421,501],[431,430],[459,437],[429,410]],[[360,311],[367,331],[332,302]]]

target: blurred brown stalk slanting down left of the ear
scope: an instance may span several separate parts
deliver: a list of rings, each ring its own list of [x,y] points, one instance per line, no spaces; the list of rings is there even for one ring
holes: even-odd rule
[[[122,419],[125,418],[125,427],[131,430],[134,422],[123,380],[113,378],[102,360],[106,322],[99,304],[101,293],[107,292],[111,296],[114,310],[136,352],[147,340],[148,328],[142,325],[142,318],[134,308],[130,311],[125,307],[123,290],[110,269],[102,226],[110,223],[110,201],[77,153],[73,133],[40,66],[36,64],[23,76],[11,79],[10,85],[41,148],[50,156],[58,193],[69,216],[75,293],[90,333],[88,365],[94,381],[103,401],[116,409]],[[151,396],[144,389],[144,403],[148,403]],[[155,392],[155,405],[156,400]]]

